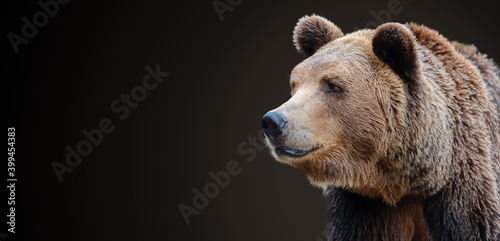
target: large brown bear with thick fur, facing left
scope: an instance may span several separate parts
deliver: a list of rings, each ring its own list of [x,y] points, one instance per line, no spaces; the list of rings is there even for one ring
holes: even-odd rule
[[[500,240],[500,80],[472,45],[305,16],[291,98],[262,119],[279,162],[322,187],[329,240]]]

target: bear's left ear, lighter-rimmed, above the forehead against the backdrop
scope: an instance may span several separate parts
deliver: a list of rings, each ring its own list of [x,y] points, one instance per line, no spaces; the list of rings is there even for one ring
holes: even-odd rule
[[[293,30],[293,43],[299,52],[309,57],[323,45],[342,36],[340,28],[327,19],[306,15],[299,19]]]

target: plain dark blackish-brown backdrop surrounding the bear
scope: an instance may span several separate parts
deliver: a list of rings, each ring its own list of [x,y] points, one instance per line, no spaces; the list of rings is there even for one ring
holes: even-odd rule
[[[289,73],[304,59],[292,43],[300,17],[323,15],[348,33],[388,2],[243,0],[221,21],[212,1],[73,0],[18,54],[6,36],[41,8],[3,2],[3,128],[16,128],[18,178],[16,234],[6,240],[324,240],[321,190],[267,150],[246,162],[238,145],[289,97]],[[498,2],[400,4],[391,21],[428,25],[500,59]],[[170,75],[119,120],[111,102],[157,64]],[[65,163],[65,146],[105,117],[116,129],[59,183],[52,162]],[[230,160],[242,172],[186,225],[178,205],[192,206],[192,189]]]

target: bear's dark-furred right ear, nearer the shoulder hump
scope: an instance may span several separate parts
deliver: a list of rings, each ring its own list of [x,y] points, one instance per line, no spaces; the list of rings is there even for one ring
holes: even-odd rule
[[[419,68],[416,39],[413,33],[399,23],[385,23],[375,30],[373,52],[387,63],[411,87],[418,82]]]

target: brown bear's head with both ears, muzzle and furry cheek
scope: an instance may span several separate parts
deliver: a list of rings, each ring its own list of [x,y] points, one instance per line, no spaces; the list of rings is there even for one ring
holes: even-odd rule
[[[340,186],[390,204],[422,193],[414,175],[425,172],[433,179],[421,182],[444,183],[432,173],[446,172],[450,153],[425,160],[421,149],[451,145],[422,143],[434,132],[443,140],[451,135],[445,121],[429,118],[446,119],[440,114],[446,104],[437,97],[428,104],[432,97],[424,92],[433,86],[422,81],[422,51],[405,25],[344,36],[312,15],[299,20],[293,41],[308,58],[290,75],[292,97],[262,119],[275,159],[304,170],[313,185]]]

